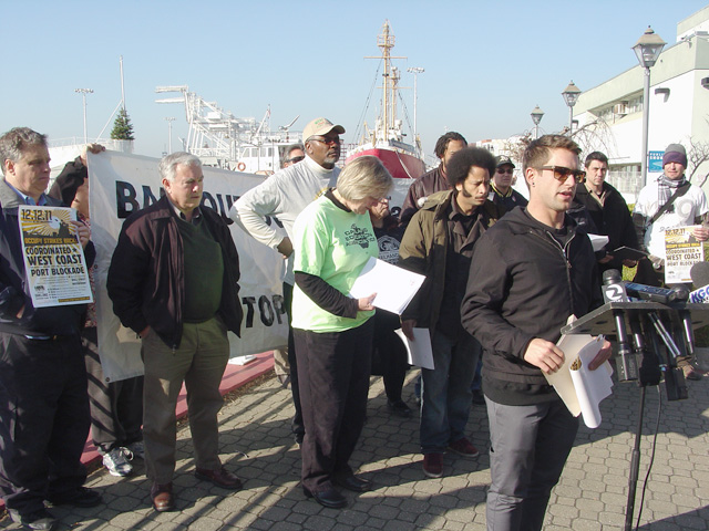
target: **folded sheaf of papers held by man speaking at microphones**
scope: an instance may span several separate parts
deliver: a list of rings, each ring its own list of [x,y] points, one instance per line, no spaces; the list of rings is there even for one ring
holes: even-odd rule
[[[556,344],[564,351],[564,365],[553,374],[545,374],[568,410],[577,417],[583,414],[584,424],[589,428],[600,425],[600,400],[610,396],[613,381],[610,364],[605,362],[595,371],[588,364],[604,345],[604,337],[587,334],[563,335]]]

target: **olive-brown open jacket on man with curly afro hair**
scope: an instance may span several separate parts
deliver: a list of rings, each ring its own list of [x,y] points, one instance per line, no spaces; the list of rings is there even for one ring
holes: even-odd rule
[[[414,319],[417,326],[431,331],[435,330],[443,301],[449,246],[446,212],[450,211],[452,198],[452,191],[439,191],[430,196],[411,219],[399,247],[399,267],[425,275],[423,285],[401,319]],[[492,201],[486,200],[480,208],[483,209],[482,216],[471,233],[484,233],[502,216],[502,210]]]

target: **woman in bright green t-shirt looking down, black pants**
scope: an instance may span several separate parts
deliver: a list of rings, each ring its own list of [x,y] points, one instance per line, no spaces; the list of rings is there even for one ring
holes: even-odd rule
[[[392,186],[378,158],[356,158],[337,188],[310,204],[294,226],[292,329],[306,428],[301,480],[305,494],[329,508],[347,504],[336,485],[371,489],[348,461],[367,412],[376,293],[347,294],[379,253],[368,209]]]

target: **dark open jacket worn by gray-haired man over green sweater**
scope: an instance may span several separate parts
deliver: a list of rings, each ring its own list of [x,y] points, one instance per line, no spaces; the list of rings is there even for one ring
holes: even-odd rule
[[[239,335],[244,312],[239,303],[239,258],[232,233],[210,208],[201,208],[209,232],[222,247],[224,284],[218,314],[227,329]],[[177,348],[182,340],[185,304],[182,236],[177,216],[164,196],[129,217],[113,251],[109,279],[113,311],[124,326],[141,333],[146,326],[166,345]]]

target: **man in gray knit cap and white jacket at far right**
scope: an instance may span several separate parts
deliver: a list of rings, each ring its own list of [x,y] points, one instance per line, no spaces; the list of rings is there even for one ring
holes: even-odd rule
[[[662,156],[662,175],[640,190],[633,210],[633,223],[640,248],[650,253],[638,262],[635,281],[662,285],[665,282],[665,230],[675,227],[702,225],[707,220],[707,198],[698,186],[685,177],[687,152],[681,144],[670,144]],[[695,228],[699,241],[709,239],[709,228]],[[688,379],[699,379],[700,373],[691,366],[688,356],[677,360]]]

